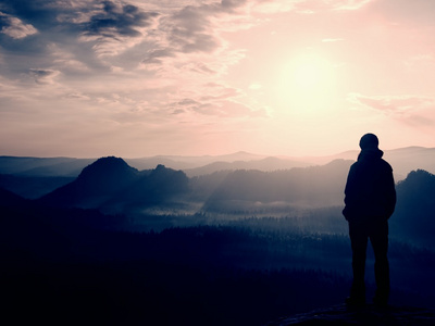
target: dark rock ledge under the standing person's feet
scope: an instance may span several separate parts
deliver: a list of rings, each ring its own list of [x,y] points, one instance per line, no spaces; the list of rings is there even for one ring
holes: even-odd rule
[[[370,325],[370,326],[428,326],[435,325],[435,310],[411,306],[389,306],[385,309],[366,305],[360,309],[347,309],[345,304],[315,310],[306,314],[283,317],[266,326],[289,325]]]

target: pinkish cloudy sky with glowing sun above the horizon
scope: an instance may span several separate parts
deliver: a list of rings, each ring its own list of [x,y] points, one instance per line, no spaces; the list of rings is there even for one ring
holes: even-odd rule
[[[0,155],[435,147],[435,1],[0,0]]]

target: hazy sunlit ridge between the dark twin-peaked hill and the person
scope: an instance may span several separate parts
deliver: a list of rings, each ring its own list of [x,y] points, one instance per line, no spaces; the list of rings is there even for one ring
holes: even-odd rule
[[[343,204],[351,161],[274,172],[238,170],[229,173],[207,199],[208,210],[262,210],[279,205],[322,208]]]

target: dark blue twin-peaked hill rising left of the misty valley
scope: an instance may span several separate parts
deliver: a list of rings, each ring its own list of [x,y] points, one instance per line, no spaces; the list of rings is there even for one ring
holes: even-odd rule
[[[123,159],[101,158],[85,167],[78,177],[44,196],[39,203],[59,208],[102,209],[114,212],[128,205],[165,202],[185,192],[188,179],[181,171],[158,165],[152,171],[137,171]]]

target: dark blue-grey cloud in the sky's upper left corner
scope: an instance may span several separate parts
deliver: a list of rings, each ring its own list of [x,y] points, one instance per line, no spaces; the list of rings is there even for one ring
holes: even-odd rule
[[[8,17],[30,23],[15,22],[14,29],[3,26],[3,33],[22,37],[34,33],[30,27],[35,26],[39,48],[76,45],[82,51],[89,48],[97,57],[117,55],[138,45],[159,16],[158,12],[121,0],[0,0],[0,9]]]

